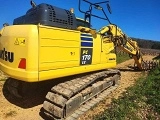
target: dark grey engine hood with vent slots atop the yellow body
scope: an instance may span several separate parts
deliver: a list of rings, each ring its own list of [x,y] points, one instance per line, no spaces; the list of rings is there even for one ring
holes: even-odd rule
[[[77,27],[74,13],[45,3],[29,9],[25,15],[14,19],[13,25],[21,24],[41,24],[66,29]]]

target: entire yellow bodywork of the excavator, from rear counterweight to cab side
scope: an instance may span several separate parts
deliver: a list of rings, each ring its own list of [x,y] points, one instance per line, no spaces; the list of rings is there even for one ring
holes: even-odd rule
[[[100,34],[95,37],[78,30],[7,26],[0,37],[0,50],[14,53],[14,61],[3,59],[1,54],[0,69],[15,79],[36,82],[113,68],[113,43],[103,41]],[[18,68],[22,58],[26,59],[25,69]]]

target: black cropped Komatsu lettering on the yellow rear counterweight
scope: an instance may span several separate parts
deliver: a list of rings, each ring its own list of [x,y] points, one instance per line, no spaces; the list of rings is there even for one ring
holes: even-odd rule
[[[8,52],[4,48],[3,50],[0,50],[0,58],[5,60],[5,61],[9,61],[9,62],[12,63],[14,61],[14,53],[13,52]]]

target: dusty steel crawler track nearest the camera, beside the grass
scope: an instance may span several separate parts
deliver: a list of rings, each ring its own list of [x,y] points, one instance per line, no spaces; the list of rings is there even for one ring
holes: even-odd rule
[[[74,120],[117,88],[118,70],[95,72],[51,88],[43,103],[50,119]]]

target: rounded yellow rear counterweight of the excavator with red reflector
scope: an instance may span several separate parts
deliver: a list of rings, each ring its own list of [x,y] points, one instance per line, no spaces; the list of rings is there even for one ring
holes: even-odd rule
[[[22,42],[24,44],[17,43]],[[38,29],[35,25],[14,25],[3,29],[0,37],[0,69],[9,76],[28,82],[38,78]],[[12,53],[12,61],[7,58]],[[10,55],[11,56],[11,55]],[[2,59],[3,58],[3,59]],[[26,69],[18,68],[21,58],[26,58]]]

